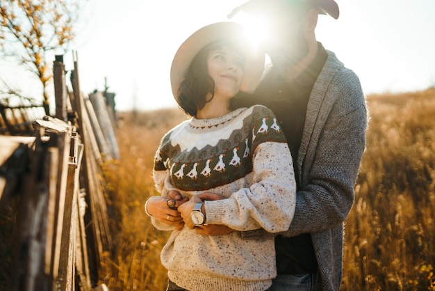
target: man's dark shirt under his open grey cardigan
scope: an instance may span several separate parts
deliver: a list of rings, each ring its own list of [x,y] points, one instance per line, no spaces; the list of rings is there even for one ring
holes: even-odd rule
[[[273,67],[256,88],[254,95],[240,94],[231,100],[232,107],[250,107],[263,104],[277,116],[281,128],[286,135],[288,147],[296,165],[299,146],[304,132],[306,108],[315,80],[325,65],[327,53],[318,43],[319,52],[313,63],[302,74],[290,82],[286,82]],[[300,190],[298,175],[296,175],[297,191]],[[306,219],[309,219],[307,217]],[[309,233],[297,237],[277,236],[275,239],[277,251],[278,274],[309,274],[317,270],[317,261],[313,242]]]

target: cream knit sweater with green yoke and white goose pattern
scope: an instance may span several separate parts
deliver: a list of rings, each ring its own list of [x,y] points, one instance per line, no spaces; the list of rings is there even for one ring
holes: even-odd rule
[[[178,189],[226,199],[206,201],[206,223],[234,230],[288,230],[295,210],[295,178],[286,139],[272,111],[261,105],[220,118],[192,118],[170,130],[154,164],[162,196]],[[173,230],[152,219],[160,230]],[[173,230],[161,261],[171,281],[187,290],[265,290],[276,276],[274,238],[243,239]]]

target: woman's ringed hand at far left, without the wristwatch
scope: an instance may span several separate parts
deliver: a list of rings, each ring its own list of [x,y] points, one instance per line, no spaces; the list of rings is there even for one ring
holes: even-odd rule
[[[158,221],[181,230],[184,221],[177,208],[187,200],[188,198],[181,196],[177,191],[170,191],[167,197],[153,196],[147,202],[147,212]]]

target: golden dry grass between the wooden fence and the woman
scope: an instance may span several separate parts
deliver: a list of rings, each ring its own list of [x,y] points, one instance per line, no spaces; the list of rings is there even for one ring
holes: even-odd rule
[[[121,114],[117,127],[121,159],[105,168],[114,248],[101,266],[101,283],[115,290],[165,290],[160,251],[168,233],[155,230],[144,213],[145,200],[159,195],[151,177],[154,153],[163,134],[186,119],[178,109]]]

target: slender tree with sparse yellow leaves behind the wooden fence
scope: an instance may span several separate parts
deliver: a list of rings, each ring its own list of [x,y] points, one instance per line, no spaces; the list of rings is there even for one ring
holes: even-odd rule
[[[2,0],[0,53],[35,74],[42,84],[48,112],[47,87],[52,79],[46,52],[67,49],[76,36],[74,24],[85,0]]]

